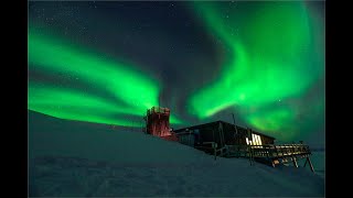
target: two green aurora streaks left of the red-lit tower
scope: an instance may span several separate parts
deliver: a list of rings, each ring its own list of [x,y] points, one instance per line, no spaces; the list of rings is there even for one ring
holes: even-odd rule
[[[115,114],[143,116],[158,106],[159,85],[131,67],[84,52],[55,36],[29,32],[29,64],[51,75],[74,75],[87,85],[97,86],[116,98],[116,102],[71,90],[30,81],[29,109],[62,119],[131,125]],[[120,103],[122,105],[118,105]],[[171,123],[180,120],[171,117]]]

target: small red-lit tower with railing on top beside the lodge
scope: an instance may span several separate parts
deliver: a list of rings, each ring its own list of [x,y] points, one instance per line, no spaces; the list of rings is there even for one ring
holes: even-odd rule
[[[169,136],[169,116],[168,108],[152,107],[147,110],[146,131],[148,134],[156,136]]]

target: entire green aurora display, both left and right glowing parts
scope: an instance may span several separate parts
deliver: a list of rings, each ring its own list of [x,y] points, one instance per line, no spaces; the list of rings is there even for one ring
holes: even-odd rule
[[[195,80],[199,87],[186,92],[185,106],[168,107],[172,124],[217,120],[217,113],[228,110],[237,112],[237,121],[246,127],[289,141],[323,122],[324,96],[310,91],[324,80],[324,21],[309,3],[238,2],[232,9],[228,2],[184,3],[207,34],[220,41],[225,58],[214,66],[216,78],[203,85]],[[30,110],[61,119],[137,127],[130,118],[141,120],[168,89],[168,82],[143,64],[111,57],[39,26],[29,25],[30,73],[71,79],[61,85],[30,79]],[[175,97],[178,94],[170,100]]]

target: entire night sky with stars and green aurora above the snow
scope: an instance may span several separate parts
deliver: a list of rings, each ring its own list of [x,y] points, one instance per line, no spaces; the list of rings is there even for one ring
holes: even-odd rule
[[[324,1],[30,1],[28,109],[174,129],[215,120],[324,145]]]

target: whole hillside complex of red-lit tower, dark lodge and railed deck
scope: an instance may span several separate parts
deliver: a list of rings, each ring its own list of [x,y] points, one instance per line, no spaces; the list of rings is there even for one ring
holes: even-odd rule
[[[208,154],[224,157],[248,157],[250,164],[260,162],[275,167],[278,164],[292,162],[298,167],[298,160],[307,158],[310,169],[314,172],[310,161],[311,151],[308,145],[282,144],[275,145],[275,138],[245,129],[224,121],[215,121],[179,130],[169,127],[170,110],[153,107],[145,117],[148,134],[160,136],[168,141],[204,151]]]

